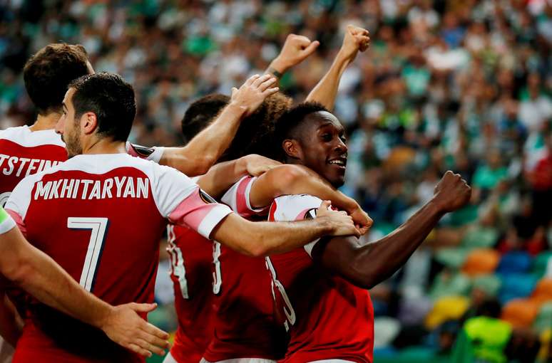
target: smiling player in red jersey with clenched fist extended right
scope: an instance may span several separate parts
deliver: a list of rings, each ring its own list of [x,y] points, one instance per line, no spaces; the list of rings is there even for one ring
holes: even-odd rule
[[[307,102],[286,112],[275,140],[282,162],[305,165],[336,187],[343,184],[344,128],[322,105]],[[267,258],[276,315],[290,333],[285,362],[372,362],[373,310],[366,289],[404,265],[439,219],[464,206],[470,195],[466,181],[446,172],[434,198],[379,241],[362,246],[354,237],[320,238]],[[280,196],[269,219],[316,219],[320,203],[307,194]]]

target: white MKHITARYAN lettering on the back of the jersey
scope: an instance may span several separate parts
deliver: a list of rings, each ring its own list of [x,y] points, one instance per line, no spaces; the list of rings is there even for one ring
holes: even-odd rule
[[[113,190],[116,186],[116,191]],[[36,182],[34,200],[38,199],[110,199],[118,198],[148,199],[150,181],[140,177],[118,177],[106,180],[59,179],[55,181]]]

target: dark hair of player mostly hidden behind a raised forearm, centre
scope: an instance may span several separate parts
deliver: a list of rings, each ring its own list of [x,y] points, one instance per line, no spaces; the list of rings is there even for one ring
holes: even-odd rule
[[[228,102],[230,102],[230,97],[221,93],[206,95],[193,102],[186,110],[181,122],[184,142],[188,143],[201,130],[205,129],[215,116],[228,105]]]

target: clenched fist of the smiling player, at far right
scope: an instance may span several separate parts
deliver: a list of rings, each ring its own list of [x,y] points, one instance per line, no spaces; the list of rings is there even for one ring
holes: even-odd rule
[[[471,188],[460,174],[446,172],[435,187],[434,201],[444,212],[456,211],[465,206],[471,197]]]

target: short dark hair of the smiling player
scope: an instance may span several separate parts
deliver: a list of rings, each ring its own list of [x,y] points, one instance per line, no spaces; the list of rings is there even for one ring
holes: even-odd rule
[[[276,122],[275,135],[273,137],[272,147],[277,150],[276,159],[285,159],[285,152],[282,149],[282,142],[286,139],[296,139],[301,130],[303,121],[311,113],[329,110],[318,102],[302,102],[295,107],[290,108]]]

